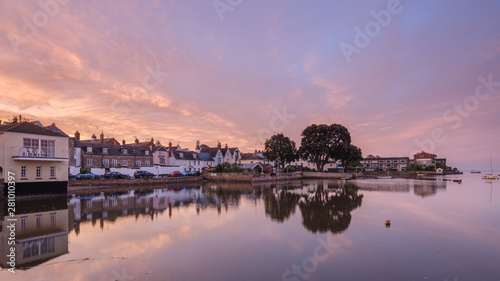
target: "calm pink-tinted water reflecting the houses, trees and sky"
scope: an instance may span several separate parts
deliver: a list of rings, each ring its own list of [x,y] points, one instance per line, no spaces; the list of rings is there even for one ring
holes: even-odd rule
[[[15,274],[5,212],[0,280],[500,280],[500,181],[480,174],[23,200]]]

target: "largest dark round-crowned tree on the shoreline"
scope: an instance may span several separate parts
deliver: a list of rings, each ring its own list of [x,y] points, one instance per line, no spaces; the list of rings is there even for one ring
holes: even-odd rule
[[[351,144],[351,134],[339,124],[310,125],[302,131],[299,155],[311,159],[318,171],[330,160],[340,159],[345,145]]]

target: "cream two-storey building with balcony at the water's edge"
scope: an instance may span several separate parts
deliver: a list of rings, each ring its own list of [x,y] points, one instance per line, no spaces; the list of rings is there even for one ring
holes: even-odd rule
[[[8,172],[15,174],[18,195],[66,192],[68,135],[55,124],[14,118],[0,125],[0,167],[4,179]]]

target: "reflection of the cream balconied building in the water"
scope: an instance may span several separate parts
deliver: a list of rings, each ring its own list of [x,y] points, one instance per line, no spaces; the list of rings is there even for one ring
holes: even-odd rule
[[[2,208],[7,210],[6,202]],[[66,198],[29,200],[16,202],[14,217],[0,215],[0,265],[7,265],[10,245],[7,244],[9,230],[6,228],[17,219],[16,267],[36,266],[57,256],[68,253],[68,209]]]

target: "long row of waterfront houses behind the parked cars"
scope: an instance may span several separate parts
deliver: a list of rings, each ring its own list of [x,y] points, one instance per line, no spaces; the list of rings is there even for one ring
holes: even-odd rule
[[[240,162],[241,153],[237,147],[230,148],[226,144],[222,147],[219,142],[216,147],[196,142],[194,151],[161,145],[151,138],[147,142],[139,142],[136,138],[133,143],[121,143],[114,138],[105,138],[101,132],[100,138],[92,135],[90,140],[81,140],[80,133],[69,139],[69,163],[71,167],[83,168],[115,168],[128,167],[140,169],[142,167],[180,166],[186,171],[202,171],[204,168],[214,167],[220,163]]]

